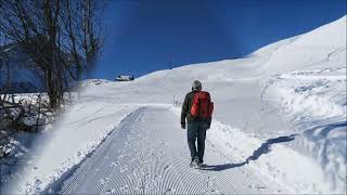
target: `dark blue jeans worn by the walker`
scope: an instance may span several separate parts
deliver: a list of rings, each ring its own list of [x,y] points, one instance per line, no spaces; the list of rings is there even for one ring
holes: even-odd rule
[[[195,156],[198,157],[198,161],[204,161],[204,152],[205,152],[205,139],[206,139],[206,130],[208,128],[208,122],[206,121],[193,121],[188,123],[187,129],[187,138],[188,138],[188,146],[191,151],[192,160]],[[197,139],[197,150],[196,142]]]

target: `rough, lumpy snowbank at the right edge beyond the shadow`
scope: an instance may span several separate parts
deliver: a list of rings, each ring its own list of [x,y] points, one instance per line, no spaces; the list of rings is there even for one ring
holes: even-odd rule
[[[336,193],[346,192],[346,84],[344,65],[277,75],[262,94],[280,102],[283,115],[303,133],[297,147],[321,165]]]

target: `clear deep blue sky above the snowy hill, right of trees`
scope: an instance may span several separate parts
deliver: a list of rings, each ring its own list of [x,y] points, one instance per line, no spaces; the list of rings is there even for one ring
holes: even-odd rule
[[[92,78],[242,57],[346,14],[346,0],[114,0]]]

